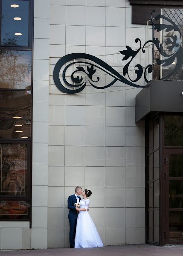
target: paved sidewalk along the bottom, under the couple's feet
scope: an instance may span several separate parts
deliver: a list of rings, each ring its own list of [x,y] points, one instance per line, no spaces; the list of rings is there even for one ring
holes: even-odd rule
[[[183,256],[183,245],[121,245],[102,248],[1,251],[2,256]]]

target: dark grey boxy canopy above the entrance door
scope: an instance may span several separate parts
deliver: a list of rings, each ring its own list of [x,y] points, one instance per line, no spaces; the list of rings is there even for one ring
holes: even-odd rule
[[[183,81],[151,81],[136,96],[135,122],[150,112],[183,112]]]

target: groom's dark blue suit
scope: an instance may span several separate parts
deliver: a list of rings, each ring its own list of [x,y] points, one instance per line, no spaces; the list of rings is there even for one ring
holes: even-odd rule
[[[79,202],[81,201],[81,198],[79,197]],[[69,224],[70,224],[70,233],[69,233],[69,240],[70,240],[70,247],[74,248],[74,239],[76,235],[76,224],[77,224],[77,218],[78,213],[76,211],[76,207],[74,206],[75,203],[77,203],[77,199],[75,195],[70,195],[68,200],[68,208],[69,208]]]

